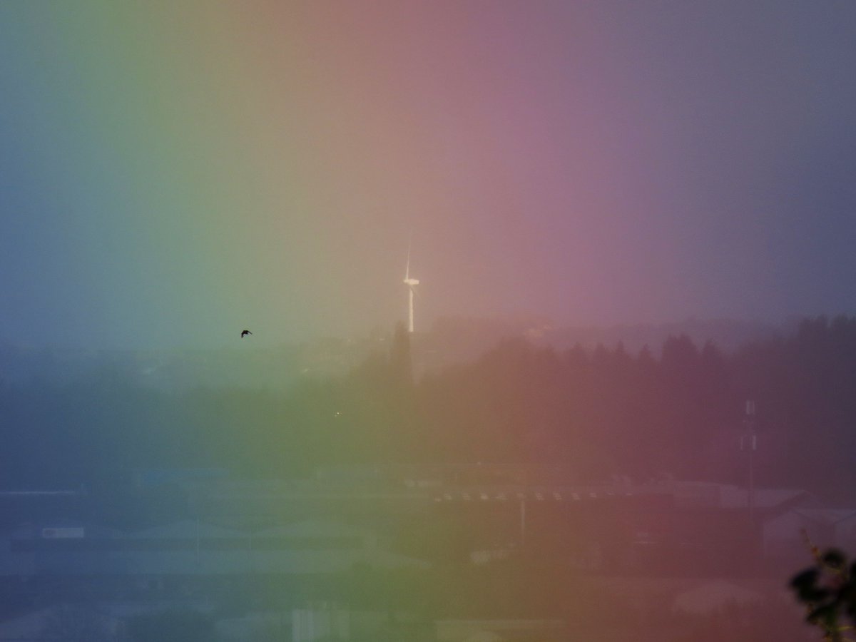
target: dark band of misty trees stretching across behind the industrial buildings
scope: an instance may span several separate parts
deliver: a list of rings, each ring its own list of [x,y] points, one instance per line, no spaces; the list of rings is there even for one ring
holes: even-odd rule
[[[110,370],[0,379],[0,487],[115,484],[146,468],[298,478],[323,465],[477,461],[549,464],[580,483],[744,484],[753,433],[758,484],[841,500],[856,488],[856,318],[806,319],[729,354],[688,336],[636,354],[510,338],[415,380],[413,358],[400,328],[389,354],[282,390],[169,392]]]

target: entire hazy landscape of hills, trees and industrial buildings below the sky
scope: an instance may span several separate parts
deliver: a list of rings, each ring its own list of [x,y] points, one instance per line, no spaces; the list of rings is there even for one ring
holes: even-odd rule
[[[4,348],[0,639],[813,639],[853,319],[486,327]]]

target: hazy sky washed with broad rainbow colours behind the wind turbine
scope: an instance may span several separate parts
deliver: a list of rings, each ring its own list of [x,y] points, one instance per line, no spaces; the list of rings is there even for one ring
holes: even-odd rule
[[[856,313],[856,3],[0,3],[0,342]]]

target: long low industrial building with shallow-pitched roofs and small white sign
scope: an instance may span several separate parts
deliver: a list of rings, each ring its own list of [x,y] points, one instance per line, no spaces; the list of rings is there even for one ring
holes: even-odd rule
[[[372,532],[332,521],[303,521],[256,532],[182,520],[142,531],[80,526],[78,537],[25,527],[0,539],[0,574],[168,577],[341,573],[354,565],[424,564],[377,546]],[[71,531],[68,527],[65,531]],[[85,533],[85,534],[84,534]]]

